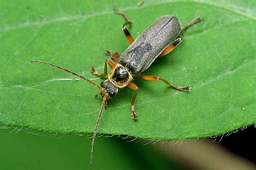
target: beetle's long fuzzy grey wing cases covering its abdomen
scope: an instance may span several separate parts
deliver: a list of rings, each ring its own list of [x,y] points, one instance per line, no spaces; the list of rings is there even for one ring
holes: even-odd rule
[[[165,15],[149,26],[118,58],[117,63],[131,74],[145,71],[162,51],[180,34],[180,22]]]

